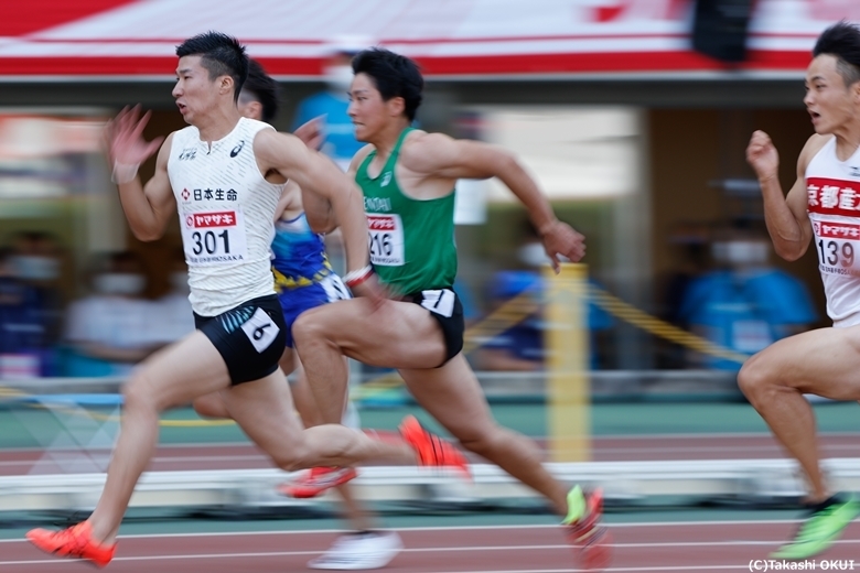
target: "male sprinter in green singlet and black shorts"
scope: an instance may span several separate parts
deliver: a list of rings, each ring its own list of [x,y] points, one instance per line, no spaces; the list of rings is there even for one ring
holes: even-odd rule
[[[541,493],[562,516],[583,565],[606,565],[610,544],[598,527],[599,491],[555,479],[537,446],[493,420],[463,354],[463,311],[452,290],[456,273],[454,184],[498,177],[523,202],[547,255],[580,260],[584,238],[559,221],[535,181],[510,153],[474,141],[411,129],[423,79],[416,64],[386,50],[353,60],[350,116],[355,136],[369,143],[350,173],[364,192],[373,267],[344,277],[347,286],[375,272],[400,298],[374,304],[353,299],[312,309],[293,326],[297,349],[326,422],[338,422],[346,396],[342,354],[397,368],[409,391],[464,447]],[[312,127],[300,134],[311,140]],[[309,197],[305,213],[316,230],[336,225],[324,199]]]

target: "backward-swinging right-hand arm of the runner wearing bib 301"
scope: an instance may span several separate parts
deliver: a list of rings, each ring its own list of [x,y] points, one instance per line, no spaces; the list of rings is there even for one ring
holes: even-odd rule
[[[367,219],[362,192],[337,165],[308,149],[298,138],[270,129],[257,133],[254,152],[261,169],[273,169],[301,187],[305,209],[319,197],[331,204],[343,233],[347,270],[368,264]]]

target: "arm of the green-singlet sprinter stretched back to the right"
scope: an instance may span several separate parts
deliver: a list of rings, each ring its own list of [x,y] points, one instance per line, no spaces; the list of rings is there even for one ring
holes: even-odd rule
[[[559,269],[558,256],[572,261],[585,256],[585,238],[556,218],[537,182],[512,153],[477,141],[428,133],[405,145],[401,156],[408,169],[437,177],[498,177],[528,209],[556,271]]]

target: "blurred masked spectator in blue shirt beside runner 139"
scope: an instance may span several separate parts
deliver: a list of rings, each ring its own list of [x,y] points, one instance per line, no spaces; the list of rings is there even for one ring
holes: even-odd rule
[[[754,354],[818,320],[806,285],[770,266],[771,242],[734,233],[712,245],[720,268],[690,282],[678,316],[694,332],[741,354]],[[739,370],[739,363],[706,357],[705,365]]]

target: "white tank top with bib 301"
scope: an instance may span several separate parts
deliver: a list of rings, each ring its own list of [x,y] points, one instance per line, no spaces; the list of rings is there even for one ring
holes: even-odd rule
[[[270,250],[283,185],[266,181],[254,138],[268,123],[241,118],[212,148],[187,127],[173,134],[168,175],[176,196],[194,312],[215,316],[275,293]]]

